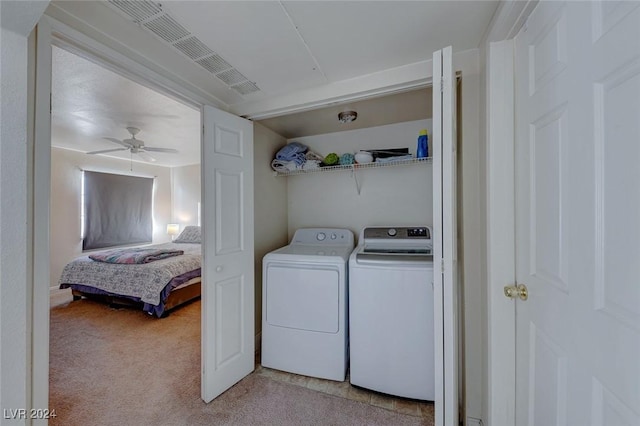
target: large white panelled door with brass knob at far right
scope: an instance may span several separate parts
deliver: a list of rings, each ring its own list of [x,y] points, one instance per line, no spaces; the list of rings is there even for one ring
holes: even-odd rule
[[[516,38],[516,424],[640,424],[640,3]]]

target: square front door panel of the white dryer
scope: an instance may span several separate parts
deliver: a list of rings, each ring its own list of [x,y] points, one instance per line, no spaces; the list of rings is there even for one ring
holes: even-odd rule
[[[340,273],[330,265],[271,263],[267,267],[269,325],[323,333],[339,331]]]

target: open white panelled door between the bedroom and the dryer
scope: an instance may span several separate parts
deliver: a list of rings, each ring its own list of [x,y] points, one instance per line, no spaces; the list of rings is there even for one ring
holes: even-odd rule
[[[202,399],[254,369],[253,123],[203,108]]]

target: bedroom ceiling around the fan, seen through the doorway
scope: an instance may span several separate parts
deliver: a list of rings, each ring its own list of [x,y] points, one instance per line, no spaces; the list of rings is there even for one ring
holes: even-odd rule
[[[200,112],[66,50],[54,47],[51,144],[82,152],[119,148],[105,137],[128,139],[140,129],[145,145],[179,154],[151,153],[161,166],[200,163]],[[131,159],[128,151],[111,157]],[[144,161],[133,155],[134,161]]]

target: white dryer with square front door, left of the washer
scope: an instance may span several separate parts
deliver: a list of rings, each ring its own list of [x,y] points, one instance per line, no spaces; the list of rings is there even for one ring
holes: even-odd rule
[[[262,261],[264,367],[344,381],[348,367],[348,229],[298,229]]]

